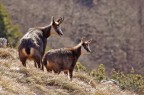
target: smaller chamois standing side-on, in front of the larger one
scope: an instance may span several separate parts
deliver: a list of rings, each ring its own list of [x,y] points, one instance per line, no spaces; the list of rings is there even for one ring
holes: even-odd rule
[[[44,55],[43,64],[48,72],[52,70],[58,74],[61,71],[64,71],[65,74],[69,72],[70,79],[72,80],[73,69],[81,55],[81,47],[83,46],[87,52],[91,52],[90,42],[91,40],[84,41],[84,38],[82,38],[81,42],[75,47],[49,50]]]

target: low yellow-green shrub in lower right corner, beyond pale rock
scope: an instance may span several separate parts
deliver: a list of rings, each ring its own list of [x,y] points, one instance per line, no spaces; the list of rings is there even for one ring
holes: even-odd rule
[[[112,71],[112,78],[119,81],[122,89],[133,90],[144,95],[144,77],[140,74],[124,74]]]

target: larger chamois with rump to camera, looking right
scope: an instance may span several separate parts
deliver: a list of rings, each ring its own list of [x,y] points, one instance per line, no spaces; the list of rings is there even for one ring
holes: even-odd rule
[[[63,18],[54,20],[51,18],[51,23],[45,27],[30,28],[28,32],[21,38],[18,52],[19,58],[23,66],[26,67],[26,60],[34,60],[35,67],[43,70],[42,57],[45,53],[47,38],[51,35],[51,29],[53,28],[58,35],[62,36],[63,32],[60,28],[60,24],[63,22]],[[41,66],[42,64],[42,66]]]

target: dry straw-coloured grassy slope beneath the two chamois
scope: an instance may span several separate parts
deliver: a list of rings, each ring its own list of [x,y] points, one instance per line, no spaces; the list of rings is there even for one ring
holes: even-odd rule
[[[114,84],[93,81],[83,72],[74,72],[70,81],[64,74],[42,72],[27,62],[24,68],[11,48],[0,48],[0,95],[136,95]]]

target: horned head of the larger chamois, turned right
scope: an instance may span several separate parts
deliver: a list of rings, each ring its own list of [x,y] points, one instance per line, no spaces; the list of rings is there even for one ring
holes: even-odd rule
[[[58,33],[58,35],[62,36],[63,32],[61,30],[60,24],[63,22],[64,17],[60,17],[59,19],[57,19],[56,21],[54,20],[54,17],[52,16],[51,18],[51,25],[54,28],[54,30]]]

